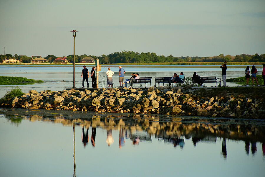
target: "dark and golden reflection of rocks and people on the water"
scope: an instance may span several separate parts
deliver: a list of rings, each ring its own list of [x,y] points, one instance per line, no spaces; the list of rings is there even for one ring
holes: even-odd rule
[[[172,147],[183,149],[185,141],[191,140],[194,147],[201,143],[216,143],[221,140],[221,156],[226,159],[229,155],[227,141],[244,141],[242,147],[246,154],[257,152],[257,143],[262,144],[262,155],[265,156],[265,120],[225,119],[205,117],[179,117],[165,115],[138,115],[138,114],[95,114],[87,112],[68,111],[30,111],[23,109],[2,109],[0,117],[8,118],[19,126],[22,119],[31,122],[44,121],[60,123],[64,126],[82,127],[82,143],[86,148],[90,142],[96,148],[97,129],[103,129],[107,135],[98,137],[99,142],[104,138],[107,146],[117,145],[125,147],[125,142],[139,146],[142,141],[163,141],[172,144]],[[83,117],[88,117],[84,119]],[[16,119],[16,120],[14,120]],[[119,140],[115,140],[117,132]],[[154,137],[154,139],[152,139]],[[74,135],[75,138],[75,135]],[[127,143],[126,143],[127,144]],[[75,147],[75,139],[74,139]]]

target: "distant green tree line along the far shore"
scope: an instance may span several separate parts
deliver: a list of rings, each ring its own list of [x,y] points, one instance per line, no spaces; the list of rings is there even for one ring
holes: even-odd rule
[[[258,55],[257,53],[255,55],[248,55],[248,54],[240,54],[236,56],[232,55],[223,55],[220,54],[218,56],[206,56],[206,57],[190,57],[190,56],[181,56],[181,57],[174,57],[173,55],[164,56],[164,55],[157,55],[156,53],[147,52],[147,53],[138,53],[134,51],[121,51],[121,52],[114,52],[108,55],[101,55],[101,56],[95,56],[95,55],[75,55],[75,62],[80,63],[80,60],[82,60],[85,57],[92,57],[92,58],[99,58],[99,62],[102,64],[109,64],[109,63],[170,63],[170,62],[262,62],[265,63],[265,54]],[[17,55],[15,54],[12,56],[11,54],[6,55],[0,55],[1,61],[7,58],[15,58],[22,60],[22,63],[31,63],[31,57],[28,57],[26,55]],[[49,63],[52,63],[57,56],[54,55],[48,55],[45,57],[49,61]],[[68,55],[67,60],[69,60],[70,63],[73,63],[74,56]]]

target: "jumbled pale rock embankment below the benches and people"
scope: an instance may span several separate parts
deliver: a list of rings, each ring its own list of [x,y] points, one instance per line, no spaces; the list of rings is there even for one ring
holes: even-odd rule
[[[244,90],[243,90],[244,92]],[[150,87],[130,89],[29,91],[21,97],[0,103],[4,107],[72,111],[167,114],[208,117],[264,119],[264,89],[260,95],[192,89]]]

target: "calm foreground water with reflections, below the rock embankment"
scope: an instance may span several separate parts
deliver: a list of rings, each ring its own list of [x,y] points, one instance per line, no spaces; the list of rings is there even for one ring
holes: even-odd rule
[[[265,121],[0,109],[0,176],[264,176]]]

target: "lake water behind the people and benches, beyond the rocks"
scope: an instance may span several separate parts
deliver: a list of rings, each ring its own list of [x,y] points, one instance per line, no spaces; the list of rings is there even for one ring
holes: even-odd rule
[[[119,66],[112,65],[110,66],[111,70],[114,71],[113,75],[113,82],[114,86],[119,85],[119,77],[118,71]],[[108,66],[102,65],[101,71],[99,72],[99,86],[105,87],[106,83],[106,71]],[[151,86],[155,85],[154,77],[168,77],[172,76],[173,73],[180,74],[183,72],[185,76],[191,77],[193,73],[196,71],[199,76],[216,76],[216,78],[222,78],[221,69],[219,66],[212,65],[212,66],[191,66],[191,65],[168,65],[168,66],[161,66],[161,65],[152,65],[152,66],[124,66],[123,67],[126,71],[125,78],[130,78],[130,74],[135,72],[139,73],[140,77],[153,77]],[[226,71],[227,78],[235,78],[244,76],[244,69],[246,66],[229,66]],[[257,66],[258,71],[261,71],[261,65]],[[91,67],[88,67],[89,71]],[[76,87],[82,87],[82,66],[76,66],[75,68],[75,83]],[[261,74],[261,72],[259,72]],[[0,76],[17,76],[17,77],[26,77],[29,79],[35,80],[43,80],[44,83],[35,83],[31,85],[18,85],[22,91],[27,93],[29,90],[52,90],[52,91],[59,91],[65,88],[72,88],[73,87],[73,68],[72,66],[21,66],[21,65],[0,65]],[[89,84],[91,87],[91,78],[89,78]],[[86,84],[86,83],[85,83]],[[136,86],[139,84],[136,84]],[[223,83],[221,83],[223,85]],[[228,86],[237,86],[236,83],[227,83]],[[7,91],[14,88],[16,85],[1,85],[0,86],[0,97],[4,96]],[[85,85],[86,86],[86,85]],[[147,85],[148,87],[150,85]],[[206,83],[205,86],[215,86],[214,83]]]

